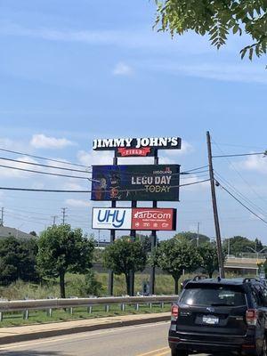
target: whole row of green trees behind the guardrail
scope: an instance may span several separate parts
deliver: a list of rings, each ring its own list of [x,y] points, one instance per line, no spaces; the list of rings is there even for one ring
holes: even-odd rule
[[[88,284],[93,279],[93,259],[96,251],[93,237],[83,235],[81,229],[70,225],[57,225],[47,228],[40,237],[0,240],[0,284],[7,286],[17,279],[45,283],[45,280],[59,279],[61,297],[66,297],[65,276],[67,272],[85,274]],[[225,239],[224,255],[263,250],[259,239],[244,237]],[[170,274],[174,279],[174,292],[178,293],[178,283],[183,273],[200,270],[209,277],[218,270],[216,245],[205,235],[193,232],[176,234],[172,239],[158,242],[150,251],[150,238],[139,235],[137,239],[128,236],[116,239],[99,255],[103,265],[116,274],[125,275],[127,294],[130,293],[131,272],[143,271],[153,265]]]

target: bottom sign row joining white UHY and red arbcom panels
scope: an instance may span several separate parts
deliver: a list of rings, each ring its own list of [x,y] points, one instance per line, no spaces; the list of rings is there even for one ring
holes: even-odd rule
[[[98,230],[176,230],[176,209],[150,207],[93,207],[93,229]]]

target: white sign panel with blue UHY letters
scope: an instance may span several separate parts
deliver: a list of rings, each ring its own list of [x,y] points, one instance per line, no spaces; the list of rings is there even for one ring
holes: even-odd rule
[[[93,208],[93,228],[131,230],[131,209]]]

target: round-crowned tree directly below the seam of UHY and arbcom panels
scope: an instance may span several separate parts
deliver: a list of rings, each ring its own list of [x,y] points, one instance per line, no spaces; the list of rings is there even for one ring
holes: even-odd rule
[[[115,240],[106,247],[104,265],[116,274],[125,275],[127,294],[130,295],[131,271],[143,271],[147,262],[146,246],[141,241],[129,237]]]

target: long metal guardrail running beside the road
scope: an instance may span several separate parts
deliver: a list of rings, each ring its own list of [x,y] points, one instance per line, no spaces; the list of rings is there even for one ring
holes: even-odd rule
[[[79,306],[139,303],[173,303],[178,295],[116,296],[101,298],[36,299],[0,301],[0,312],[75,308]]]

